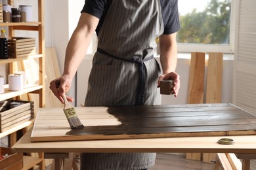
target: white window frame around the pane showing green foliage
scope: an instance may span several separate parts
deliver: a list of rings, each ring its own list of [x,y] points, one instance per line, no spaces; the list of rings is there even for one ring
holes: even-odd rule
[[[230,11],[230,44],[185,44],[177,43],[178,52],[223,52],[225,54],[234,54],[236,11],[238,11],[239,1],[231,0]],[[182,29],[182,28],[181,28]]]

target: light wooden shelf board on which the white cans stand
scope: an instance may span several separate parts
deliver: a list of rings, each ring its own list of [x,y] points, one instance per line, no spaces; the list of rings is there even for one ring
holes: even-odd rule
[[[27,84],[26,87],[24,87],[22,90],[19,91],[9,91],[9,84],[5,84],[5,93],[0,94],[0,101],[10,99],[12,97],[16,97],[18,95],[22,95],[25,93],[34,92],[36,90],[42,89],[42,85],[38,84]]]

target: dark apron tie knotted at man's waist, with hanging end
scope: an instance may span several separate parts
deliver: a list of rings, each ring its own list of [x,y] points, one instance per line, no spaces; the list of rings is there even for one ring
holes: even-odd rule
[[[133,56],[133,58],[127,59],[127,58],[119,58],[117,56],[109,54],[108,52],[106,52],[100,48],[97,48],[97,52],[100,52],[101,54],[104,54],[106,56],[110,56],[111,58],[114,58],[114,59],[119,59],[119,60],[127,61],[127,62],[135,62],[138,64],[139,84],[138,84],[138,89],[137,89],[138,92],[137,92],[135,105],[144,105],[145,84],[146,84],[146,69],[145,69],[144,61],[153,59],[154,56],[150,56],[149,58],[145,58],[145,59],[140,59],[139,55],[135,55],[135,56]]]

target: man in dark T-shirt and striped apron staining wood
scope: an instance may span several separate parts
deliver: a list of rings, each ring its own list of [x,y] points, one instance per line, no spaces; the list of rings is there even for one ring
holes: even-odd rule
[[[96,30],[98,49],[85,107],[158,105],[160,80],[174,80],[173,93],[179,93],[180,80],[175,73],[179,29],[177,0],[86,0],[68,42],[64,73],[50,88],[63,103],[61,96],[70,89]],[[157,37],[163,73],[153,57]],[[60,83],[58,90],[56,82]],[[81,154],[81,169],[147,169],[155,158],[154,153]]]

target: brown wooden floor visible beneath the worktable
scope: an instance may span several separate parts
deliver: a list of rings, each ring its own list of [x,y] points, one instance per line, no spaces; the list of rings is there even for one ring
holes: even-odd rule
[[[156,164],[148,170],[212,170],[214,163],[186,160],[184,154],[157,154]],[[45,170],[50,170],[49,165]],[[251,161],[251,170],[256,170],[256,160]]]

